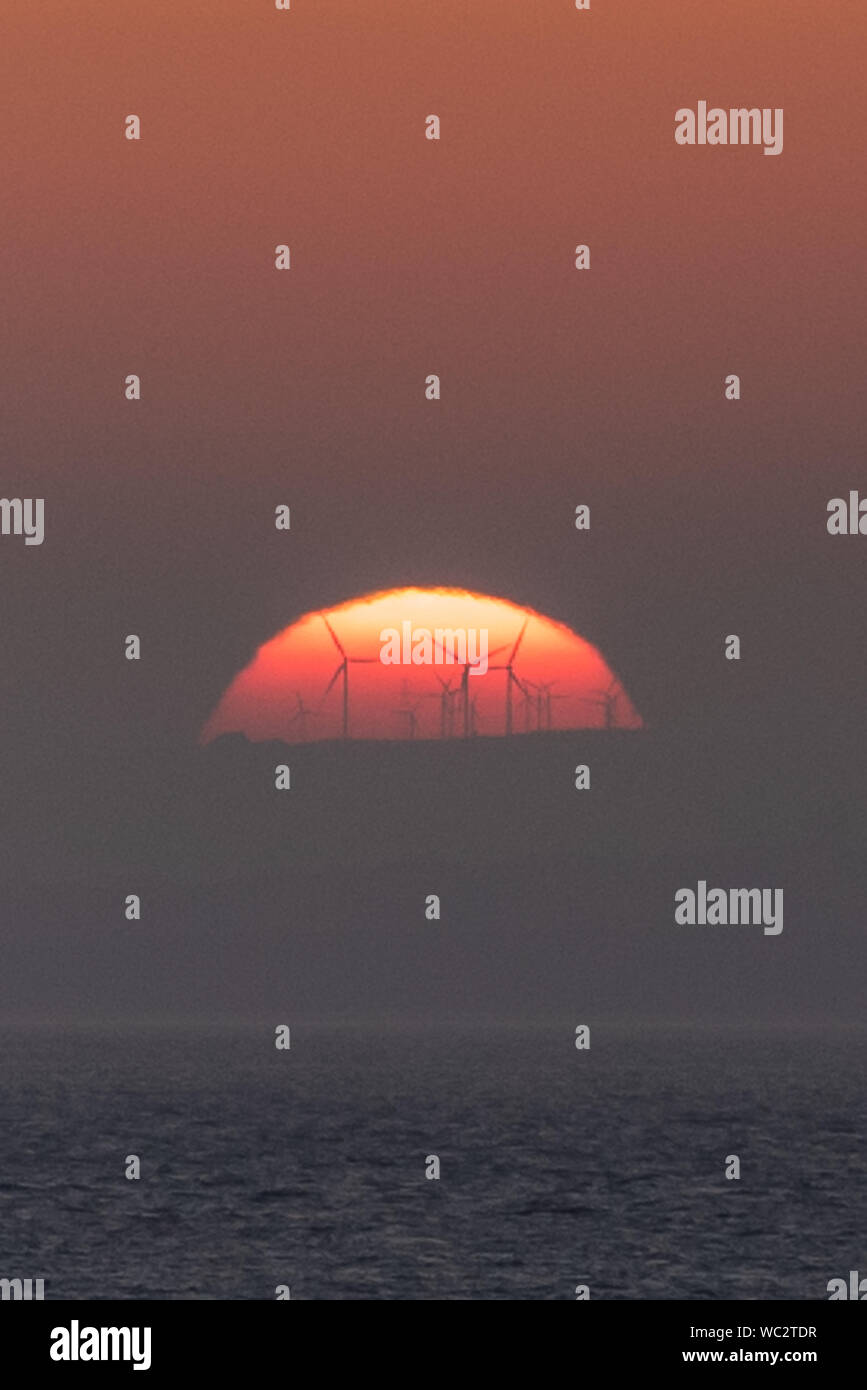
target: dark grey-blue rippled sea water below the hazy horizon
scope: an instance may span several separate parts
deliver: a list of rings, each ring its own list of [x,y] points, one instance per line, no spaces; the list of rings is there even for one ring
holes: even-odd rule
[[[597,1026],[578,1052],[572,1031],[317,1024],[278,1052],[265,1024],[7,1029],[0,1277],[47,1298],[824,1300],[867,1273],[867,1034]]]

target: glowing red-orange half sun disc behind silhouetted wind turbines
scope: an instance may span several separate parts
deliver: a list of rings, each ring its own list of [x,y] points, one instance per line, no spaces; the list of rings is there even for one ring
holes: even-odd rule
[[[260,646],[200,742],[641,727],[600,652],[561,623],[485,594],[390,589],[307,613]]]

